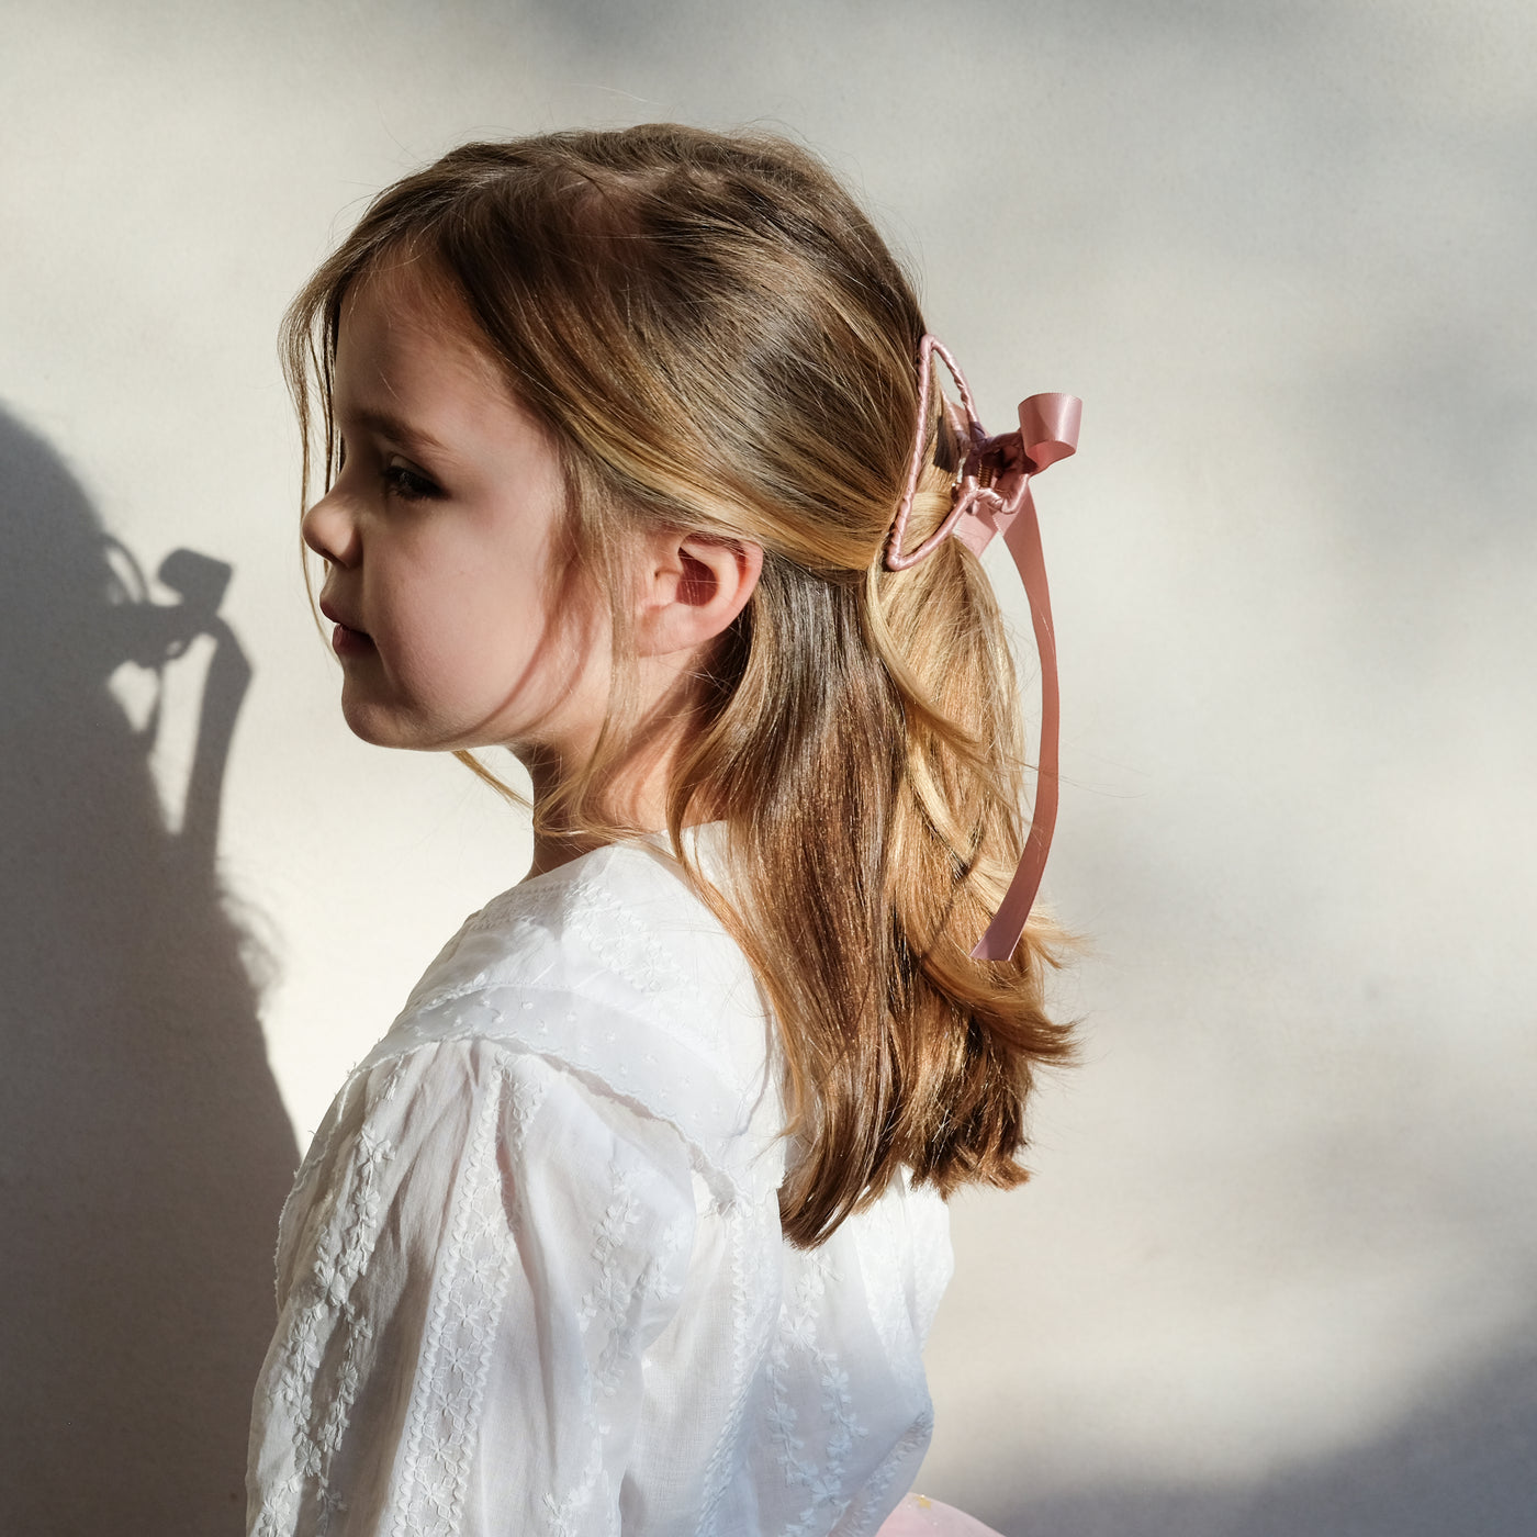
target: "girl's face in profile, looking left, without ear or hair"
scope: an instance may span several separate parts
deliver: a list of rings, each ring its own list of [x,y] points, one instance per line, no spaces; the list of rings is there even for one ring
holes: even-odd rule
[[[607,633],[556,569],[558,455],[456,318],[400,267],[343,306],[343,467],[303,523],[343,715],[386,747],[579,747]]]

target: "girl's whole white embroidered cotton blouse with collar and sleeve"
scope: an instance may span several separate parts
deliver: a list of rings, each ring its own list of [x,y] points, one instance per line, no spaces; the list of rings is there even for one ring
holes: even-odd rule
[[[875,1532],[928,1445],[945,1208],[899,1182],[792,1248],[775,1085],[658,845],[476,913],[283,1211],[249,1531]]]

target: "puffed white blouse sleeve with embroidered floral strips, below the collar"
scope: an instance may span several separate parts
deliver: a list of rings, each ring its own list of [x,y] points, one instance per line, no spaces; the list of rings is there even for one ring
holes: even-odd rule
[[[251,1532],[618,1532],[693,1223],[678,1133],[541,1057],[367,1070],[283,1216]]]

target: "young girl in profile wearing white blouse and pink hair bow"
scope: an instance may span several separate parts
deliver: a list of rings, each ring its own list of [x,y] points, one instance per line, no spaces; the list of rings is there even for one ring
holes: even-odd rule
[[[251,1531],[984,1531],[898,1506],[944,1197],[1025,1177],[1067,1051],[1028,476],[1076,401],[987,438],[828,174],[676,126],[446,155],[286,337],[347,724],[510,749],[535,859],[298,1173]]]

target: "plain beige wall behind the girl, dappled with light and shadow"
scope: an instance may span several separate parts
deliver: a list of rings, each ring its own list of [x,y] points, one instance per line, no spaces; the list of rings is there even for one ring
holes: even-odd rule
[[[1084,1065],[956,1205],[922,1483],[1031,1537],[1528,1531],[1534,15],[12,0],[0,1525],[237,1528],[289,1125],[526,861],[341,725],[278,314],[456,140],[678,117],[850,177],[988,421],[1087,401],[1039,492]],[[101,529],[234,567],[234,924],[155,802],[211,642],[146,755]]]

